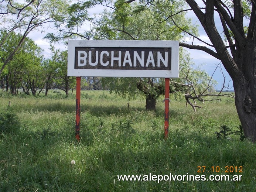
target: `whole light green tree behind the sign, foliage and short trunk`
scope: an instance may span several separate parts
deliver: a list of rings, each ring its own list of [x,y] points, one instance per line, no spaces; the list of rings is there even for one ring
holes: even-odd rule
[[[184,36],[177,26],[169,21],[158,22],[160,18],[168,16],[168,11],[179,10],[184,5],[182,1],[170,3],[171,1],[157,1],[157,6],[141,6],[141,4],[125,3],[123,0],[116,1],[115,10],[105,11],[96,22],[94,38],[182,40]],[[184,14],[175,18],[183,27],[190,28],[191,33],[197,34],[197,29],[192,27],[190,21],[185,20]],[[182,56],[180,54],[180,57]],[[103,83],[109,86],[110,92],[115,91],[122,96],[135,96],[142,93],[146,97],[146,110],[155,110],[157,98],[165,93],[164,80],[159,78],[103,78]],[[171,93],[181,89],[178,84],[170,85]]]

